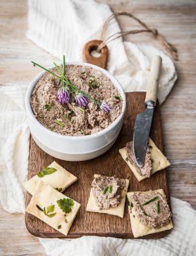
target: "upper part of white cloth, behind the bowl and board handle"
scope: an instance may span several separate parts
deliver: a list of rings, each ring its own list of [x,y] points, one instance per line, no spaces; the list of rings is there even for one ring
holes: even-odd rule
[[[92,0],[29,0],[27,37],[60,60],[65,54],[67,61],[82,61],[84,44],[100,38],[103,24],[110,14],[108,5]],[[112,20],[105,36],[116,32],[120,32],[120,27],[116,20]],[[125,91],[146,90],[151,58],[160,55],[163,68],[158,98],[160,103],[165,100],[177,79],[169,56],[152,45],[135,45],[123,42],[121,38],[108,43],[108,50],[107,69]]]

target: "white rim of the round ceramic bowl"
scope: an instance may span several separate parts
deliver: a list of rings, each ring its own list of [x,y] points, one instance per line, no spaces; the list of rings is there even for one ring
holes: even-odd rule
[[[85,139],[93,139],[93,138],[97,138],[100,137],[102,135],[104,135],[105,133],[107,133],[108,131],[112,130],[113,127],[116,126],[116,124],[122,119],[123,115],[125,114],[125,108],[126,108],[126,96],[125,96],[125,92],[123,91],[122,85],[120,84],[120,82],[112,75],[110,74],[110,72],[108,72],[107,70],[90,64],[90,63],[86,63],[86,62],[67,62],[67,65],[76,65],[76,66],[90,66],[93,69],[96,70],[101,70],[111,81],[112,83],[114,83],[114,86],[118,89],[120,95],[122,96],[123,99],[123,104],[122,104],[122,112],[121,114],[105,129],[98,131],[97,133],[92,133],[91,135],[83,135],[83,136],[73,136],[73,135],[61,135],[60,133],[56,133],[54,131],[50,131],[50,129],[44,127],[44,125],[42,125],[42,123],[40,123],[37,118],[35,117],[35,115],[33,114],[33,110],[31,108],[31,95],[33,93],[33,89],[35,88],[35,85],[37,84],[37,82],[39,81],[39,79],[41,78],[41,76],[46,73],[46,71],[42,71],[39,72],[39,74],[35,75],[35,77],[33,77],[33,80],[31,81],[31,83],[29,84],[29,86],[27,87],[27,91],[25,94],[25,108],[27,111],[27,116],[31,117],[31,119],[33,119],[33,121],[35,121],[37,123],[37,125],[46,133],[48,133],[48,135],[52,135],[53,137],[58,137],[58,138],[64,138],[64,139],[68,139],[68,140],[84,140]]]

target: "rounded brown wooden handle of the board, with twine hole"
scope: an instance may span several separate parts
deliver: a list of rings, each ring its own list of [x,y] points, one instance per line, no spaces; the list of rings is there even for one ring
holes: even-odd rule
[[[106,45],[101,49],[101,55],[99,57],[94,57],[91,55],[91,52],[93,50],[97,50],[101,43],[103,43],[103,41],[101,40],[92,40],[86,43],[83,49],[83,60],[84,62],[94,64],[96,66],[106,69],[106,64],[108,60],[108,47],[106,47]]]

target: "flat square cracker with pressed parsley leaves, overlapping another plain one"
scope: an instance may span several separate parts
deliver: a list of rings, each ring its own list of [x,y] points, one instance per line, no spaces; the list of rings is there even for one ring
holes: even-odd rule
[[[44,221],[44,223],[52,226],[52,228],[67,236],[69,229],[71,228],[71,225],[80,208],[80,203],[74,201],[74,206],[71,213],[64,213],[57,205],[57,200],[63,198],[67,198],[67,196],[61,194],[60,192],[52,188],[52,186],[49,186],[43,181],[39,181],[35,189],[34,195],[31,198],[29,205],[27,206],[26,211],[27,213],[31,213],[38,219],[41,219],[41,221]],[[47,208],[49,205],[51,205],[51,203],[55,205],[54,213],[56,213],[56,215],[54,217],[48,217],[44,215],[44,213],[36,206],[39,205],[39,207],[44,209],[44,207]],[[65,218],[67,220],[66,222]],[[58,229],[57,226],[59,225],[61,225],[61,228]]]

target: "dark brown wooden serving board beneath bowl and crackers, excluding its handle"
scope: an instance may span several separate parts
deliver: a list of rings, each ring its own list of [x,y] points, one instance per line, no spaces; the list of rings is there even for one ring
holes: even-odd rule
[[[81,203],[80,211],[78,212],[78,215],[76,216],[66,238],[78,238],[80,236],[133,238],[127,203],[125,203],[125,214],[123,219],[112,215],[86,211],[86,205],[90,195],[91,181],[95,173],[104,173],[107,176],[116,175],[122,179],[129,179],[130,183],[128,191],[148,191],[163,188],[167,199],[169,200],[166,170],[158,171],[152,175],[150,179],[138,182],[118,152],[120,148],[125,146],[126,142],[132,139],[135,117],[145,108],[145,95],[146,93],[126,93],[127,109],[122,131],[120,132],[118,140],[116,140],[114,146],[112,146],[112,148],[110,148],[110,150],[105,154],[99,156],[99,158],[80,162],[57,160],[44,153],[41,148],[35,144],[31,137],[28,179],[33,177],[38,171],[44,169],[44,167],[48,166],[54,160],[78,177],[78,181],[74,182],[74,184],[69,186],[69,188],[64,192],[66,196],[69,196],[70,198],[73,198],[73,200],[76,200],[76,202]],[[163,152],[161,115],[158,103],[154,112],[150,137],[154,140],[157,147]],[[25,199],[26,205],[28,205],[30,200],[31,195],[27,192]],[[27,230],[35,236],[42,238],[65,238],[63,234],[54,230],[54,228],[51,228],[29,213],[25,213],[25,224],[27,226]],[[169,230],[163,231],[144,236],[143,238],[163,238],[169,234],[169,232]]]

